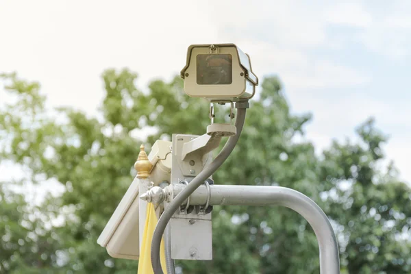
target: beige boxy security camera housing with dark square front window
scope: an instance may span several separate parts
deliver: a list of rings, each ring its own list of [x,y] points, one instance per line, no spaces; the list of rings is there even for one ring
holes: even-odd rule
[[[249,55],[234,44],[191,45],[181,76],[188,96],[210,101],[250,99],[258,86]]]

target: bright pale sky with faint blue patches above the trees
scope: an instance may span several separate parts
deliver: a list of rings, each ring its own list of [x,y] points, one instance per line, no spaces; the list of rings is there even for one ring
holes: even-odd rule
[[[316,147],[375,116],[411,182],[410,14],[411,1],[0,0],[0,71],[93,113],[104,69],[127,66],[144,88],[177,74],[188,45],[234,42],[260,78],[279,75],[293,112],[314,114]]]

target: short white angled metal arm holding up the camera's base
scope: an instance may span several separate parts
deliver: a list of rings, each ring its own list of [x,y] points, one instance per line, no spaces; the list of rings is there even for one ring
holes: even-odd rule
[[[221,142],[221,136],[210,136],[203,134],[190,142],[186,142],[182,149],[182,160],[184,161],[190,153],[201,151],[203,155],[206,155],[213,149],[219,147]]]

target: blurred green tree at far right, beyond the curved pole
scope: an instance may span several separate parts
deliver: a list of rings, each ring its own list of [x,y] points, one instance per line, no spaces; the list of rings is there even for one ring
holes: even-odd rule
[[[340,225],[349,273],[410,273],[411,192],[393,164],[382,173],[384,134],[373,119],[356,130],[362,142],[334,142],[321,162],[327,214]]]

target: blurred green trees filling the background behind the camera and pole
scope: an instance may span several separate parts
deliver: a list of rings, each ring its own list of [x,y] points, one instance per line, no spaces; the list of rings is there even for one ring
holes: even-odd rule
[[[26,175],[0,184],[0,273],[136,273],[138,262],[110,258],[96,241],[132,182],[138,147],[145,142],[149,151],[172,133],[203,134],[209,123],[208,103],[186,96],[181,79],[156,80],[142,92],[136,77],[105,71],[93,117],[50,110],[38,83],[0,75],[0,96],[13,98],[0,105],[0,164],[12,162]],[[334,141],[316,155],[301,141],[310,119],[290,113],[279,79],[266,77],[216,184],[299,190],[332,220],[342,273],[410,273],[411,191],[393,164],[381,168],[386,136],[370,119],[356,129],[360,141]],[[157,131],[143,140],[147,126]],[[65,192],[28,202],[27,182],[47,188],[47,180]],[[214,260],[177,261],[182,273],[319,273],[314,232],[292,210],[231,206],[212,214]]]

